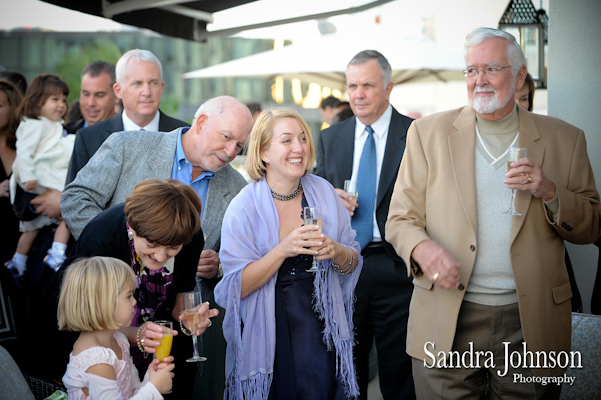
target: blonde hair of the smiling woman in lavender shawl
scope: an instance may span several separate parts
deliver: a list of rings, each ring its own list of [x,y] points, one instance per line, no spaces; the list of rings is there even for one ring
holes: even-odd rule
[[[265,175],[265,171],[267,170],[265,163],[261,160],[261,153],[269,147],[275,125],[284,118],[293,118],[300,124],[305,133],[307,145],[309,147],[309,160],[307,160],[307,170],[305,171],[305,175],[313,169],[313,163],[315,162],[315,144],[313,142],[313,137],[311,136],[311,128],[307,124],[307,121],[292,108],[272,108],[259,114],[257,121],[250,132],[248,152],[246,153],[246,172],[250,179],[255,182],[263,179],[263,175]]]

